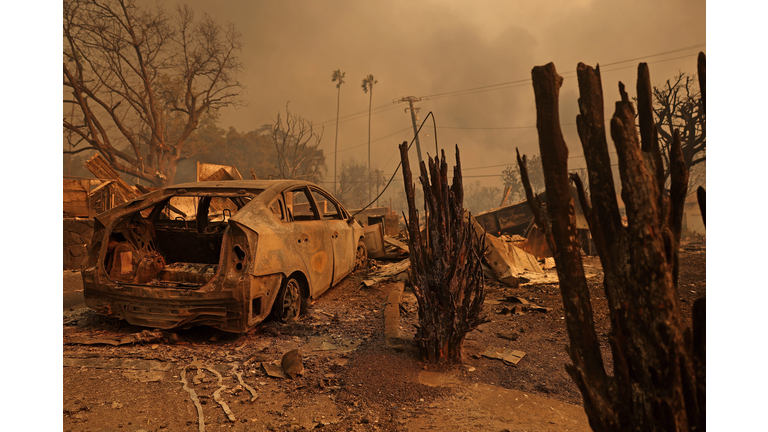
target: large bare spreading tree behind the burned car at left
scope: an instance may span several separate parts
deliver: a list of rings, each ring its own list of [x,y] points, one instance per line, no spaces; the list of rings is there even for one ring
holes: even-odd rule
[[[201,119],[240,102],[239,38],[187,6],[65,0],[65,153],[96,150],[117,171],[172,184]]]

